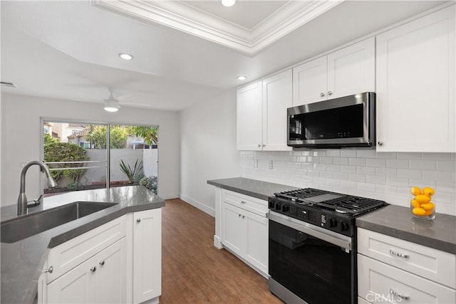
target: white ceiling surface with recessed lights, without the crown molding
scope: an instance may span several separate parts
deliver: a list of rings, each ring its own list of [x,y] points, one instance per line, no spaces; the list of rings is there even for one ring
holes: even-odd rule
[[[185,5],[252,29],[288,2]],[[1,90],[101,103],[114,88],[115,97],[123,95],[123,106],[182,110],[443,2],[343,1],[247,55],[125,12],[100,9],[92,1],[0,1],[1,81],[18,86]],[[244,9],[229,14],[236,7]],[[120,52],[135,58],[122,61]],[[237,75],[248,79],[236,80]]]

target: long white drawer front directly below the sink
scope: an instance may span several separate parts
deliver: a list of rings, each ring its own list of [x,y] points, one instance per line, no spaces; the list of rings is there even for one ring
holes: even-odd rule
[[[47,273],[47,282],[51,283],[63,273],[95,256],[103,248],[122,239],[125,234],[124,215],[51,248],[48,254],[48,267],[52,266],[53,271]]]

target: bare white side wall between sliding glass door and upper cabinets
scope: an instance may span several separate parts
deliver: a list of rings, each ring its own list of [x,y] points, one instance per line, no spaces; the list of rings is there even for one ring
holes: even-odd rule
[[[240,174],[236,90],[183,110],[180,133],[180,198],[214,216],[215,190],[207,180]]]

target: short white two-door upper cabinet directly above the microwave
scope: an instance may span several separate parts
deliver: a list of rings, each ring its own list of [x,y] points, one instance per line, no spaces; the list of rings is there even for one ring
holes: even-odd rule
[[[375,92],[375,38],[293,69],[293,105]]]

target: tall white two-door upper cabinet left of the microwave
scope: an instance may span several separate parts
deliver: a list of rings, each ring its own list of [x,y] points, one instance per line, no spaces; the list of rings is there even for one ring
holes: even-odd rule
[[[237,90],[237,150],[291,150],[286,145],[291,77],[286,70]]]

